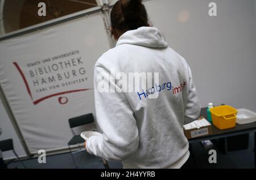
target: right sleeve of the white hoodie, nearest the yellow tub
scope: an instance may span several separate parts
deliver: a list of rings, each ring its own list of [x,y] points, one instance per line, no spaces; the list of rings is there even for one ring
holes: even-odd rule
[[[192,119],[197,119],[199,118],[200,112],[201,106],[199,97],[197,96],[196,87],[193,83],[191,68],[188,66],[188,101],[184,115]]]

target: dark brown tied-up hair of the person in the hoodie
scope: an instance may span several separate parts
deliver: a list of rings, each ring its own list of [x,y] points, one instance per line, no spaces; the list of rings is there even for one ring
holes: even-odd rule
[[[130,31],[148,24],[148,15],[142,0],[119,0],[111,11],[112,28]]]

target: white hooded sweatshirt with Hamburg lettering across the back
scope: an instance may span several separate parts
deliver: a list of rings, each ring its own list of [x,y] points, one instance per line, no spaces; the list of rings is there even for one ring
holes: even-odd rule
[[[141,92],[99,92],[100,74],[159,72],[158,98]],[[168,84],[168,85],[167,85]],[[170,85],[171,84],[171,85]],[[130,84],[129,84],[130,85]],[[168,87],[167,87],[168,86]],[[158,87],[156,84],[155,88]],[[181,168],[189,157],[184,116],[197,118],[200,103],[191,69],[154,27],[127,31],[94,67],[97,123],[104,133],[86,142],[90,154],[120,160],[124,168]]]

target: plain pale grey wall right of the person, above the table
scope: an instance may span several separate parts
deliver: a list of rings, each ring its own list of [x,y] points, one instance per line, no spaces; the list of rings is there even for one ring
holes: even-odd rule
[[[201,105],[229,104],[256,111],[255,0],[151,0],[150,20],[187,59]]]

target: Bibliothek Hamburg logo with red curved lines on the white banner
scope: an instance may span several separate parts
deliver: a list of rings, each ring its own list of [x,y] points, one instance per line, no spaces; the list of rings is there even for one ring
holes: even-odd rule
[[[13,65],[34,105],[53,97],[59,97],[57,101],[64,105],[68,103],[68,94],[92,90],[79,50]]]

